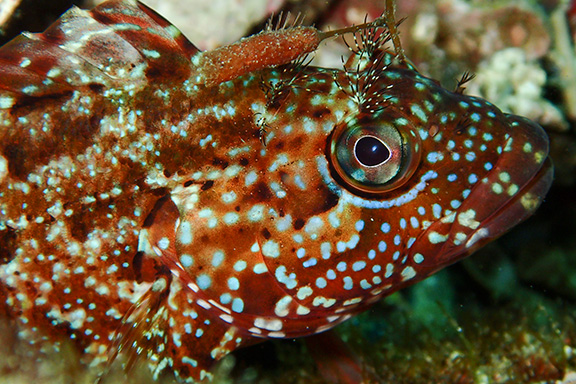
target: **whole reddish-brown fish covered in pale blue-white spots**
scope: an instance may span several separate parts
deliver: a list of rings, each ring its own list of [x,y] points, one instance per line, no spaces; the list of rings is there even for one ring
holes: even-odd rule
[[[19,337],[202,380],[534,213],[542,128],[420,74],[395,27],[280,25],[201,52],[111,0],[3,46],[0,281]],[[343,68],[307,65],[346,32]]]

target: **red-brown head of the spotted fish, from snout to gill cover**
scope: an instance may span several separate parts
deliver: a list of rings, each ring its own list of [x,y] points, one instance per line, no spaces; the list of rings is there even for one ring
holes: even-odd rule
[[[549,189],[548,139],[527,119],[410,66],[364,73],[364,88],[303,71],[267,72],[272,96],[236,107],[258,133],[212,131],[171,194],[173,272],[252,336],[328,329],[497,238]]]

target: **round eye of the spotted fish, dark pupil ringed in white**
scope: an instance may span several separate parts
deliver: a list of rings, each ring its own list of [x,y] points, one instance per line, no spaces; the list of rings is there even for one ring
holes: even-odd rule
[[[345,187],[382,193],[403,185],[420,161],[418,136],[389,122],[336,128],[330,145],[333,168]]]

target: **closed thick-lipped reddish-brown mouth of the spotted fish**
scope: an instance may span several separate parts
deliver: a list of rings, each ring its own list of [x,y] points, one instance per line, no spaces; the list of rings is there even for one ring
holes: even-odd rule
[[[526,220],[544,200],[554,176],[548,137],[528,119],[508,118],[512,134],[496,164],[461,206],[428,227],[410,250],[424,256],[421,268],[438,270],[470,255]]]

